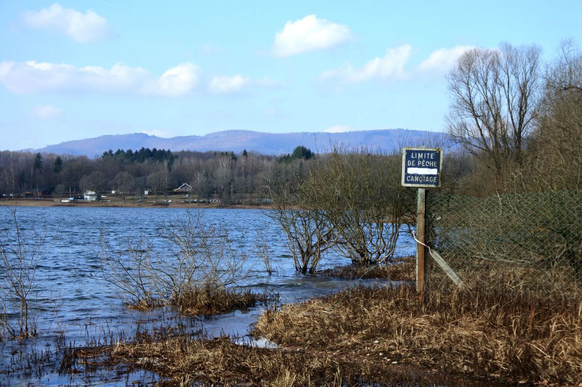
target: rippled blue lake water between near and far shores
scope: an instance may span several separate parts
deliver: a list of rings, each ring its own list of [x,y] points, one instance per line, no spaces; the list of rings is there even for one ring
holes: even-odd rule
[[[246,287],[255,292],[274,291],[281,302],[295,302],[336,292],[354,281],[331,277],[313,277],[296,273],[287,239],[281,227],[260,210],[203,209],[208,224],[222,223],[239,239],[242,250],[250,253],[250,278]],[[120,299],[118,289],[102,280],[98,242],[102,233],[112,243],[129,235],[154,238],[166,220],[184,215],[186,209],[19,207],[17,218],[24,233],[47,231],[47,243],[54,241],[42,257],[36,271],[39,286],[37,316],[38,337],[0,343],[0,385],[126,385],[125,378],[102,381],[86,375],[59,375],[56,369],[39,368],[23,374],[19,361],[42,353],[55,352],[56,343],[85,343],[107,337],[130,334],[136,324],[163,324],[180,317],[164,308],[149,311],[130,310]],[[11,214],[0,209],[0,235],[3,243],[11,238]],[[405,228],[405,227],[404,227]],[[404,231],[404,228],[402,229]],[[267,241],[274,275],[268,275],[262,260],[253,254],[257,232]],[[396,256],[413,255],[416,244],[402,232]],[[348,264],[349,260],[331,252],[320,268]],[[375,284],[378,281],[362,281]],[[384,282],[385,283],[385,282]],[[261,307],[235,311],[212,318],[182,317],[187,324],[203,329],[208,336],[228,334],[235,341],[249,341],[249,325],[260,316]],[[48,356],[48,355],[47,355]],[[10,371],[10,372],[9,372]],[[131,384],[131,379],[129,380]]]

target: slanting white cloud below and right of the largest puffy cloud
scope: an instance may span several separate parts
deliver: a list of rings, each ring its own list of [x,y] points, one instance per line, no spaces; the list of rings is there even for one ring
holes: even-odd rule
[[[375,58],[362,67],[346,64],[339,69],[327,70],[320,75],[320,80],[340,83],[361,83],[372,78],[404,78],[404,64],[410,58],[412,48],[408,44],[386,50],[382,58]]]

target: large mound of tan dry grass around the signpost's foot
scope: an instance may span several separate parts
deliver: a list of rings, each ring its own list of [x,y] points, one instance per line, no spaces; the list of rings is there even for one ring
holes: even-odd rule
[[[373,358],[376,368],[398,361],[495,384],[582,383],[580,299],[477,286],[432,294],[421,303],[406,286],[361,287],[267,311],[255,329],[286,347],[349,356],[356,364]]]

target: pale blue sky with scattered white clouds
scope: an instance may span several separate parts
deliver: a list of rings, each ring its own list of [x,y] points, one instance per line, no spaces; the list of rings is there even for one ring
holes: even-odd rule
[[[582,43],[582,2],[0,2],[0,149],[102,134],[443,130],[471,46]]]

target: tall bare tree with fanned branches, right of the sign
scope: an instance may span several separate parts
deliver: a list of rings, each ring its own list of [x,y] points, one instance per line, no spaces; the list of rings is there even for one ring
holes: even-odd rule
[[[523,162],[533,130],[540,81],[538,46],[474,48],[447,76],[449,134],[499,178],[507,163]]]

